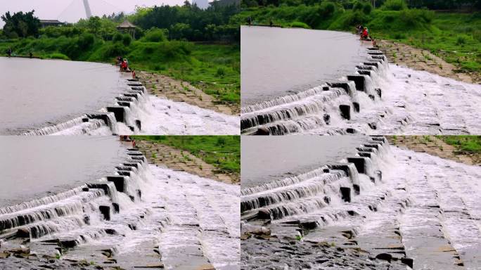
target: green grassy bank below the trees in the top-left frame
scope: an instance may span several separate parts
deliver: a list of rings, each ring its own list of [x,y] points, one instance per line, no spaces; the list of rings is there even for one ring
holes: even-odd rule
[[[124,36],[125,37],[125,36]],[[241,75],[238,45],[195,44],[188,41],[104,41],[93,34],[0,41],[0,51],[12,48],[18,56],[30,52],[41,58],[115,63],[129,60],[133,69],[158,72],[190,82],[220,101],[240,103]]]

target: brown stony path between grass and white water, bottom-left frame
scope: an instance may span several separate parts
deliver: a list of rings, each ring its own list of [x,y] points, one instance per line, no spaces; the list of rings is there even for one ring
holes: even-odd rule
[[[188,151],[165,146],[161,143],[153,143],[152,141],[136,141],[136,146],[151,164],[165,165],[169,169],[185,171],[189,174],[221,181],[226,184],[240,184],[241,182],[240,175],[221,173],[213,165],[191,155]]]

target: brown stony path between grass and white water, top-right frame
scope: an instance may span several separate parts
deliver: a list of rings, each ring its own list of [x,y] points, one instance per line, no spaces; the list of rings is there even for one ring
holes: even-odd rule
[[[481,83],[480,74],[456,72],[458,68],[455,65],[447,63],[430,51],[387,40],[378,41],[378,46],[385,53],[390,63],[406,66],[413,70],[425,70],[461,82]]]

